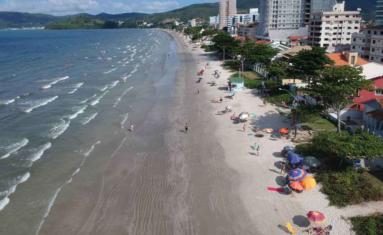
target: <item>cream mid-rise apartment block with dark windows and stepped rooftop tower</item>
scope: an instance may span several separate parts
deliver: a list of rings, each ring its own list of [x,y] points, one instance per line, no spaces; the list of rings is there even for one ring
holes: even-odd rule
[[[311,46],[334,46],[351,44],[351,34],[359,32],[359,11],[337,11],[343,5],[335,4],[334,11],[321,11],[311,14],[307,44]],[[335,9],[337,8],[337,9]]]

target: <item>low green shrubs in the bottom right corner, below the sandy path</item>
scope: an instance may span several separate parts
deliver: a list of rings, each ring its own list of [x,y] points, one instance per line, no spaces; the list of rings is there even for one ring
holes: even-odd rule
[[[382,235],[383,214],[371,216],[355,216],[347,218],[352,224],[352,230],[356,235]]]

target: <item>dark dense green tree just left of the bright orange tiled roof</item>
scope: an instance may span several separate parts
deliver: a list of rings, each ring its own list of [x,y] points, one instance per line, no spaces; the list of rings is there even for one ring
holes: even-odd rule
[[[327,47],[313,47],[311,50],[301,50],[288,60],[292,66],[288,69],[290,78],[300,79],[310,83],[317,72],[326,68],[325,65],[334,65],[334,61],[326,55]]]

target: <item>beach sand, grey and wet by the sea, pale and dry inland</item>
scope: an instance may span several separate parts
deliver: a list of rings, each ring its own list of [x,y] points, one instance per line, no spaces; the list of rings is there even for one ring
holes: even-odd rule
[[[268,235],[285,234],[277,225],[290,222],[301,234],[314,225],[307,220],[307,212],[318,210],[326,214],[323,225],[331,224],[332,234],[346,235],[351,233],[350,225],[341,216],[382,211],[383,202],[344,209],[329,207],[320,186],[295,195],[266,190],[285,186],[285,177],[279,173],[284,160],[280,150],[293,143],[275,141],[270,133],[262,138],[247,134],[254,133],[253,126],[286,127],[285,118],[272,105],[263,107],[255,89],[238,91],[233,100],[225,98],[229,73],[222,69],[222,62],[210,58],[210,53],[204,56],[201,49],[191,51],[181,35],[168,34],[173,37],[169,41],[177,46],[179,67],[172,65],[169,52],[168,72],[155,83],[157,95],[150,97],[152,90],[142,92],[138,104],[133,103],[133,110],[143,106],[142,102],[154,105],[147,119],[134,123],[134,132],[121,148],[108,162],[100,162],[106,166],[96,178],[101,185],[89,189],[96,201],[91,206],[85,200],[83,204],[78,201],[81,210],[72,216],[80,219],[73,221],[63,215],[61,231],[92,235]],[[198,84],[200,76],[196,73],[208,61],[211,68]],[[161,66],[153,64],[154,69]],[[171,71],[169,66],[178,69]],[[220,70],[222,76],[217,86],[210,86],[214,70]],[[162,94],[171,94],[172,99]],[[211,101],[221,96],[226,100],[223,104]],[[226,105],[237,115],[242,111],[257,115],[246,122],[246,133],[243,123],[233,123],[229,114],[217,115]],[[128,117],[134,115],[132,111]],[[185,123],[188,133],[184,132]],[[125,123],[124,129],[130,129],[130,123]],[[250,148],[254,142],[260,144],[260,156]],[[95,169],[100,164],[96,162]],[[52,234],[51,229],[43,228],[40,233]]]

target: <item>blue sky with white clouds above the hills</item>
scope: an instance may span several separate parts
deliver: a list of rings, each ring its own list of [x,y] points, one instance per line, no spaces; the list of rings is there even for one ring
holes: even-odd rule
[[[155,13],[218,0],[0,0],[0,11],[44,13],[56,16],[106,12]]]

